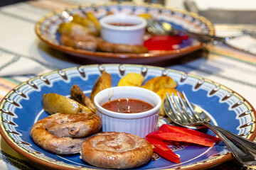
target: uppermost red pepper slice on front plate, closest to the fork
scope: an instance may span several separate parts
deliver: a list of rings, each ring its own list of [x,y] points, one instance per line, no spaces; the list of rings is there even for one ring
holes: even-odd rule
[[[174,132],[174,133],[181,133],[184,136],[185,135],[190,135],[190,136],[197,136],[201,137],[202,139],[208,140],[209,142],[218,142],[220,141],[220,138],[214,137],[212,135],[208,135],[203,132],[198,132],[197,130],[191,130],[188,128],[182,128],[182,127],[176,127],[173,125],[161,125],[161,127],[158,130],[159,132]]]

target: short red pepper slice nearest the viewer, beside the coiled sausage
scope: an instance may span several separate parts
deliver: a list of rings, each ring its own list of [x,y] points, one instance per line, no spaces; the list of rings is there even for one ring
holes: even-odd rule
[[[154,152],[161,155],[161,157],[177,164],[181,163],[181,159],[178,155],[175,154],[163,141],[151,137],[146,137],[145,139],[154,145]]]

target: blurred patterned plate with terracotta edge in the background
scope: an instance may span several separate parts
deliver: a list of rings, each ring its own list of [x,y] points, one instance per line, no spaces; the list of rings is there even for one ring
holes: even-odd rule
[[[214,35],[213,24],[203,16],[198,16],[196,13],[188,13],[187,11],[181,11],[174,8],[164,8],[162,6],[154,6],[151,4],[137,5],[129,3],[99,4],[91,6],[81,5],[73,8],[65,8],[60,11],[54,11],[53,13],[49,13],[47,16],[44,16],[36,23],[36,35],[38,35],[38,38],[43,42],[50,45],[50,47],[68,53],[72,59],[77,59],[81,62],[91,60],[97,63],[158,63],[158,65],[161,65],[161,63],[166,60],[173,60],[202,48],[202,44],[200,42],[191,38],[183,40],[181,45],[176,47],[176,50],[155,50],[144,54],[92,52],[60,45],[58,40],[59,35],[57,33],[58,25],[63,22],[70,22],[73,14],[75,13],[86,14],[88,11],[94,13],[98,19],[106,16],[109,12],[136,15],[149,13],[158,20],[171,23],[174,28],[186,28],[200,33]]]

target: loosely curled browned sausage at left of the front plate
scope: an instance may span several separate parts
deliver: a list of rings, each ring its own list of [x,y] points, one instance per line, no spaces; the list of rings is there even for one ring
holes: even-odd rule
[[[94,113],[55,113],[35,123],[30,135],[36,145],[53,154],[78,154],[86,138],[74,137],[91,135],[100,130],[101,125],[100,116]]]

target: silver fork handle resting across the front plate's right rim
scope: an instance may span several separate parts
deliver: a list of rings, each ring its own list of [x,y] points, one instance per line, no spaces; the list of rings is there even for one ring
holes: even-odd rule
[[[233,137],[228,137],[225,132],[219,130],[215,125],[211,125],[210,123],[204,122],[210,130],[213,130],[218,137],[228,146],[233,156],[238,159],[238,162],[245,166],[252,166],[256,164],[255,154],[250,152],[244,145],[240,142],[236,141]]]

